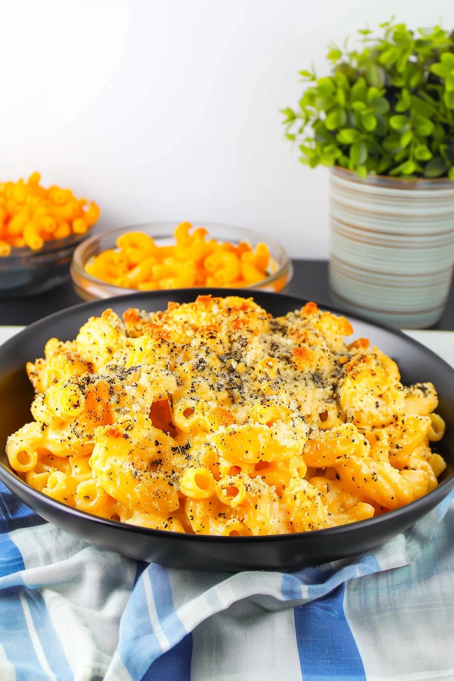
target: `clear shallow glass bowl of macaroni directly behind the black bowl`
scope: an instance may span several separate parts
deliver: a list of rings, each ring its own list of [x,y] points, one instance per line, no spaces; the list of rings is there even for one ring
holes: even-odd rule
[[[194,224],[197,227],[205,227],[208,230],[208,238],[214,238],[218,241],[227,241],[232,244],[248,241],[252,247],[255,247],[259,242],[265,242],[268,245],[273,271],[270,272],[266,279],[250,284],[247,288],[261,289],[262,291],[283,291],[289,284],[293,276],[293,266],[285,249],[274,239],[244,227],[221,225],[215,222],[197,222]],[[123,296],[124,294],[132,294],[134,291],[137,291],[137,289],[127,289],[109,284],[91,274],[87,274],[85,271],[86,264],[92,257],[99,255],[101,251],[115,249],[118,236],[126,232],[145,232],[155,240],[157,246],[174,244],[173,234],[177,225],[178,221],[150,222],[143,225],[131,225],[131,227],[112,229],[86,239],[74,251],[73,262],[71,263],[71,277],[76,294],[82,300],[95,300],[97,298]],[[209,289],[209,287],[207,288]]]

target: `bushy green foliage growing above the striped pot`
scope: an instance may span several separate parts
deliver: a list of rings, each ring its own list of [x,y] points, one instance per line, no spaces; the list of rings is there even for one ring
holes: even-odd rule
[[[359,31],[359,49],[331,44],[330,76],[299,72],[305,89],[297,110],[282,110],[286,137],[310,168],[454,180],[454,32],[393,19],[379,29]]]

